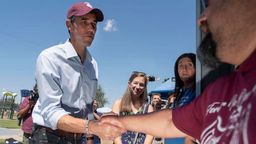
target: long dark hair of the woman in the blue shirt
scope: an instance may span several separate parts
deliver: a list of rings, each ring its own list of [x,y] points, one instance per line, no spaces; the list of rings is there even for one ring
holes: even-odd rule
[[[184,57],[188,57],[189,59],[191,59],[193,65],[195,67],[195,54],[194,53],[184,53],[181,56],[179,56],[179,58],[176,60],[175,65],[174,65],[174,74],[175,74],[174,108],[179,105],[179,102],[180,102],[182,96],[184,95],[184,91],[185,91],[184,83],[182,82],[181,78],[179,77],[179,73],[178,73],[179,60]],[[192,92],[195,91],[195,76],[193,78],[193,81],[194,82],[193,82],[193,86],[192,86]]]

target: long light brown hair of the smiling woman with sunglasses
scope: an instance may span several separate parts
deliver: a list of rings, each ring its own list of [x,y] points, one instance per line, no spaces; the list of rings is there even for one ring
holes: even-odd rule
[[[134,80],[134,78],[136,77],[144,77],[144,90],[140,95],[140,103],[141,106],[143,105],[144,101],[147,101],[147,77],[144,73],[138,72],[138,73],[134,73],[131,75],[129,82],[132,83],[132,81]],[[131,88],[128,86],[125,94],[123,95],[123,98],[121,100],[121,104],[120,104],[120,112],[131,112]]]

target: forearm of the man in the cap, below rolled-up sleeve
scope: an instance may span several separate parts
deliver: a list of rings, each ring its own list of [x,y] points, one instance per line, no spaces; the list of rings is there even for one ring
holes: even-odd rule
[[[87,120],[80,118],[75,118],[70,115],[62,116],[58,123],[57,128],[63,131],[73,132],[73,133],[86,133],[85,123]]]

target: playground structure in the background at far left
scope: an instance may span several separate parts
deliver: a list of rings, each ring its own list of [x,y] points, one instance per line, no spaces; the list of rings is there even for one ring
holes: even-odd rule
[[[8,96],[11,96],[11,101],[7,101]],[[8,119],[13,119],[14,111],[18,112],[19,107],[15,107],[15,97],[17,93],[13,93],[11,91],[3,92],[3,101],[1,101],[1,110],[0,115],[3,118],[4,115],[8,115]]]

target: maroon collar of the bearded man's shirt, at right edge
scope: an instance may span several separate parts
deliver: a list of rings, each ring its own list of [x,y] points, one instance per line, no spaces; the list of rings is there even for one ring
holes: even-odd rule
[[[245,60],[245,62],[240,65],[240,67],[236,71],[240,72],[248,72],[249,70],[256,67],[256,50]]]

